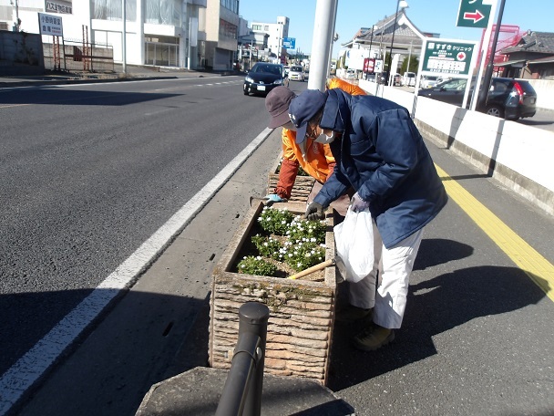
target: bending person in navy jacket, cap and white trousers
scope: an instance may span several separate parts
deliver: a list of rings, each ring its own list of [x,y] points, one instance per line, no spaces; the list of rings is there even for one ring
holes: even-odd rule
[[[305,216],[323,218],[329,204],[350,187],[355,190],[352,210],[372,213],[374,270],[349,283],[350,306],[336,319],[364,322],[354,347],[380,348],[402,325],[423,229],[445,206],[445,188],[407,109],[393,101],[351,96],[337,88],[306,89],[292,99],[289,116],[297,142],[324,136],[336,161]]]

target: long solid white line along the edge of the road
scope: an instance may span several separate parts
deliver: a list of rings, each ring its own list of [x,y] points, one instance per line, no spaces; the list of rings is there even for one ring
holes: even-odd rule
[[[210,198],[218,192],[231,175],[272,132],[263,130],[244,148],[225,168],[197,192],[188,203],[174,213],[166,224],[152,234],[139,249],[128,256],[118,268],[109,275],[77,307],[60,320],[46,336],[18,359],[5,371],[0,379],[0,415],[5,415],[17,400],[38,380],[56,361],[60,354],[87,328],[119,292],[132,286],[137,276],[146,270],[163,252],[190,219],[200,212]]]

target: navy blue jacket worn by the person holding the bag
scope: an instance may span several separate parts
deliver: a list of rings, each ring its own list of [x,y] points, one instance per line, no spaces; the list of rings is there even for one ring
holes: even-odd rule
[[[313,201],[326,207],[352,186],[390,248],[435,218],[445,187],[407,109],[338,88],[327,94],[320,127],[342,137],[331,143],[334,171]]]

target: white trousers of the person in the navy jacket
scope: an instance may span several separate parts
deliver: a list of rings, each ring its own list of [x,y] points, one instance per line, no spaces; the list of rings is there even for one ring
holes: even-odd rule
[[[359,282],[348,282],[350,303],[364,309],[374,307],[375,324],[384,328],[400,328],[410,274],[423,236],[423,228],[393,247],[386,248],[375,222],[373,224],[374,268]],[[376,281],[378,275],[381,276],[380,285]]]

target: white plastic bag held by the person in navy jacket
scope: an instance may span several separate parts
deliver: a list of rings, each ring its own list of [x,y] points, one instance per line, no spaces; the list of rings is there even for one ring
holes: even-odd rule
[[[341,224],[335,225],[334,246],[339,270],[344,265],[344,280],[359,282],[374,266],[374,227],[368,209],[354,213],[351,207]]]

